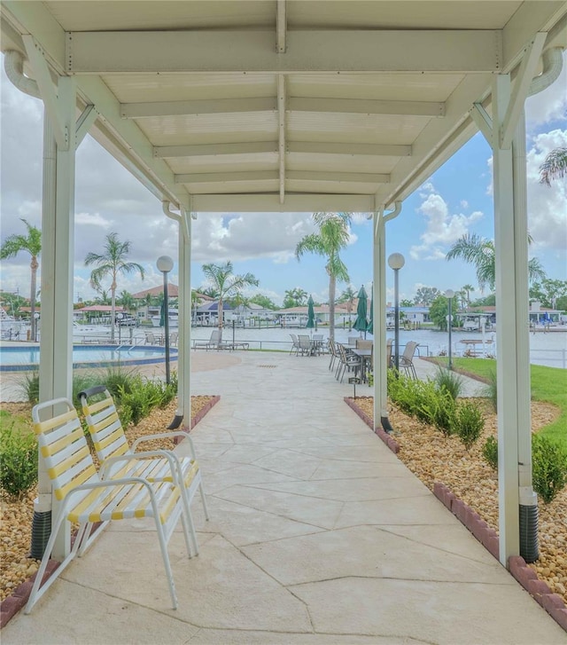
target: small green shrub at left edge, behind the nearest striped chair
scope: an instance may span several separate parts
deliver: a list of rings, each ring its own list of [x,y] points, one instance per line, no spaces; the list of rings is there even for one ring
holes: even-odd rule
[[[37,441],[33,432],[14,425],[0,429],[0,487],[21,497],[37,483]]]

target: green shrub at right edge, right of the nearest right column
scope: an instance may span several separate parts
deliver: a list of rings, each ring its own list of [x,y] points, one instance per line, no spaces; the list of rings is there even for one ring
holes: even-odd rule
[[[532,437],[532,485],[546,504],[567,483],[567,453],[543,435]]]

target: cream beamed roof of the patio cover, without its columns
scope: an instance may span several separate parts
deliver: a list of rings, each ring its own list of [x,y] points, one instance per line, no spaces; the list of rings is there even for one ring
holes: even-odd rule
[[[193,211],[373,211],[403,200],[490,113],[494,74],[563,2],[4,2],[72,75],[89,133]],[[562,20],[563,19],[563,20]],[[33,70],[28,69],[32,77]]]

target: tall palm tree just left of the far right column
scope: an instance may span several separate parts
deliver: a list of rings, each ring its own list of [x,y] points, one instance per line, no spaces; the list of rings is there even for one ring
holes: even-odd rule
[[[325,270],[329,276],[329,338],[335,340],[335,292],[337,280],[349,281],[346,265],[338,256],[342,248],[348,244],[348,225],[351,222],[350,213],[314,213],[318,233],[306,235],[299,240],[295,248],[298,258],[305,253],[315,253],[327,258]]]

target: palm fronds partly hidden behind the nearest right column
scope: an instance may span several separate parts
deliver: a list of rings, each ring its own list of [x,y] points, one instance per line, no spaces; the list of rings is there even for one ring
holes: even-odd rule
[[[528,237],[528,242],[532,242],[531,237]],[[456,258],[475,265],[478,286],[481,291],[484,290],[485,286],[494,291],[496,283],[496,252],[493,240],[486,240],[476,233],[463,235],[449,249],[446,256],[447,260]],[[532,257],[528,262],[528,276],[530,281],[543,279],[546,276],[537,257]]]

